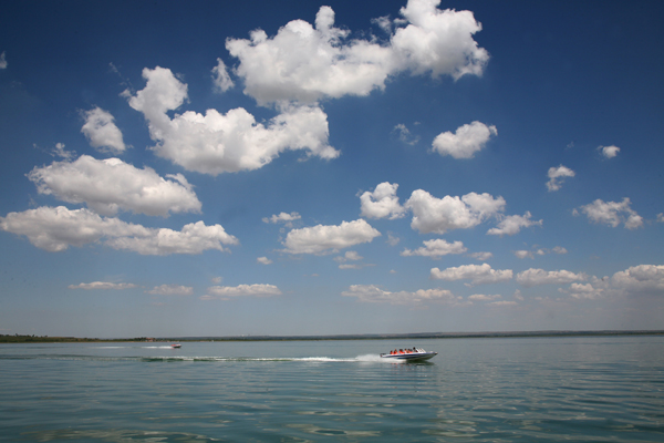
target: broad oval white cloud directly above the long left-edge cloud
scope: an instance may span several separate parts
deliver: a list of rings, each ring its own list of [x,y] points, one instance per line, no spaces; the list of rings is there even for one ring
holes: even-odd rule
[[[85,203],[102,215],[120,209],[167,217],[169,213],[200,213],[200,202],[181,174],[162,178],[154,169],[138,169],[118,158],[82,155],[73,163],[54,162],[28,174],[40,194],[68,203]]]

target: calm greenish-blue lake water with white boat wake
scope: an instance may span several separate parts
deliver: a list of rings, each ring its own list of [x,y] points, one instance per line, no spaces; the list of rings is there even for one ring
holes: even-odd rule
[[[422,347],[429,363],[381,361]],[[664,442],[664,337],[0,346],[0,440]]]

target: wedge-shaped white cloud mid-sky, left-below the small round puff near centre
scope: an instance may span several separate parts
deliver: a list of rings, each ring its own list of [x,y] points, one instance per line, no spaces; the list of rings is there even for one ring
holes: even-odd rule
[[[284,253],[325,254],[351,246],[370,243],[380,236],[364,219],[342,222],[341,225],[317,225],[288,233]]]

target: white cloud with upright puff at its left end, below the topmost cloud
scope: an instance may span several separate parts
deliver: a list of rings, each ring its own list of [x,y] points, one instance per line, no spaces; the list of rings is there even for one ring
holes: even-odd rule
[[[331,159],[339,152],[328,144],[328,116],[318,106],[283,105],[267,125],[238,107],[205,115],[187,111],[175,114],[187,99],[187,85],[170,70],[144,69],[145,89],[129,97],[129,105],[148,122],[152,150],[187,171],[218,175],[263,167],[283,151],[302,150],[308,156]]]

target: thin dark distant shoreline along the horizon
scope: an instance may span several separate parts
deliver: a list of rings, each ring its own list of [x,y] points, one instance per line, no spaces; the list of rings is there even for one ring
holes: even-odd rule
[[[664,330],[601,330],[601,331],[511,331],[511,332],[416,332],[366,333],[338,336],[236,336],[236,337],[136,337],[136,338],[76,338],[49,336],[0,334],[0,343],[90,343],[90,342],[168,342],[168,341],[342,341],[342,340],[424,340],[469,338],[537,338],[537,337],[605,337],[663,336]]]

